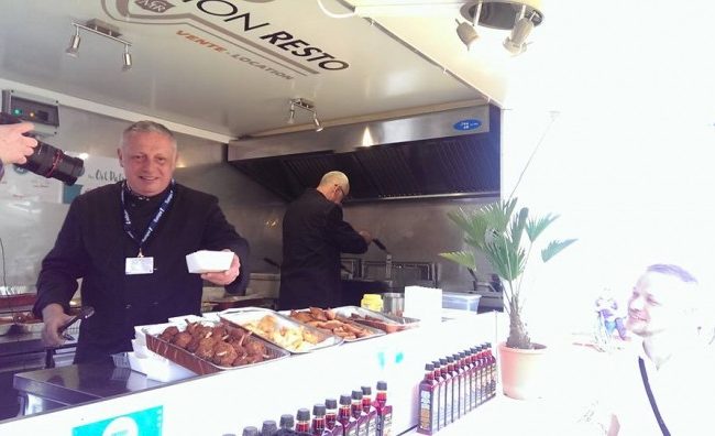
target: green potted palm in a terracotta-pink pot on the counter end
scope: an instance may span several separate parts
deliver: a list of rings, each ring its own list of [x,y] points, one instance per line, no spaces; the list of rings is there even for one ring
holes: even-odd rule
[[[510,384],[528,383],[520,380],[519,363],[507,361],[512,355],[526,356],[531,360],[542,345],[531,342],[524,320],[524,273],[534,259],[535,242],[558,218],[557,215],[531,217],[529,209],[517,210],[517,199],[499,200],[483,205],[473,210],[459,209],[448,214],[449,218],[464,231],[464,242],[471,250],[453,251],[440,255],[466,268],[477,269],[477,253],[483,255],[503,283],[504,309],[509,316],[509,336],[499,345],[502,383],[504,393],[513,397],[539,396],[528,386]],[[539,258],[548,262],[575,239],[552,240],[540,250]],[[514,351],[514,352],[513,352]],[[509,356],[507,356],[509,355]],[[516,364],[516,367],[515,367]],[[526,370],[527,373],[529,370]],[[517,379],[513,380],[516,375]]]

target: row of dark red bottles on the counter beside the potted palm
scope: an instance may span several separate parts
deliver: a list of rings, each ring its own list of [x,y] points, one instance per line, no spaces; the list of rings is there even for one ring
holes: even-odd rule
[[[425,366],[417,433],[433,435],[496,396],[496,358],[490,342]]]

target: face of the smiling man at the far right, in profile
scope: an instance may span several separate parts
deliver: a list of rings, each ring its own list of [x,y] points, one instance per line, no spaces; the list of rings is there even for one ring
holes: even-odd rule
[[[640,276],[628,301],[626,327],[641,337],[681,327],[688,290],[675,276],[649,272]]]

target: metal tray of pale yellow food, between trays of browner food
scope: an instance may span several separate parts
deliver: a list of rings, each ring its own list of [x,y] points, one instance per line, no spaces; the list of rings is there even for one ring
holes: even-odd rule
[[[304,329],[307,331],[310,331],[312,335],[318,337],[320,341],[316,345],[311,345],[310,347],[307,347],[306,349],[298,350],[294,347],[284,347],[280,344],[275,342],[271,338],[266,337],[261,330],[252,330],[249,329],[248,327],[244,327],[244,324],[246,323],[252,323],[252,321],[258,321],[261,318],[264,316],[272,316],[275,318],[275,321],[278,326],[280,327],[288,327],[288,328],[298,328],[298,329]],[[227,309],[223,312],[219,313],[219,319],[223,319],[232,325],[240,326],[243,329],[253,331],[254,335],[260,336],[262,339],[271,342],[272,345],[286,350],[288,352],[292,352],[294,355],[302,355],[306,352],[319,350],[322,348],[327,347],[332,347],[342,344],[343,338],[332,335],[329,331],[321,330],[319,328],[312,327],[312,326],[307,326],[302,323],[298,323],[297,320],[285,316],[283,314],[279,314],[277,312],[266,309],[266,308],[261,308],[261,307],[242,307],[242,308],[232,308],[232,309]]]

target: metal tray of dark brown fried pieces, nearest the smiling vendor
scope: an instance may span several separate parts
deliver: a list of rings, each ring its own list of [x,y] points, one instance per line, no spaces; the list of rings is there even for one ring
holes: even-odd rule
[[[218,326],[220,324],[226,325],[226,327],[230,329],[238,329],[241,330],[242,333],[248,333],[246,329],[240,328],[237,326],[229,325],[227,323],[219,323],[219,321],[211,321],[211,320],[202,320],[200,321],[201,325],[205,326]],[[176,327],[179,328],[179,331],[184,331],[186,329],[186,324],[185,323],[176,323],[174,324]],[[202,359],[193,352],[185,350],[184,348],[177,347],[174,344],[167,342],[163,339],[158,338],[158,335],[164,331],[164,329],[167,327],[166,324],[161,324],[156,325],[154,327],[146,327],[143,329],[144,335],[146,336],[146,347],[151,350],[154,351],[155,353],[163,356],[167,358],[168,360],[180,364],[182,367],[188,369],[189,371],[194,371],[197,374],[204,375],[204,374],[211,374],[215,372],[220,372],[220,371],[227,371],[227,370],[238,370],[241,368],[246,368],[246,367],[253,367],[256,364],[262,364],[262,363],[267,363],[273,360],[282,359],[285,357],[290,356],[287,351],[284,349],[276,347],[275,345],[263,340],[262,338],[251,335],[246,337],[244,340],[251,342],[251,341],[258,341],[263,344],[266,348],[268,358],[256,363],[246,363],[242,364],[240,367],[221,367],[218,366],[211,361],[208,361],[206,359]]]

